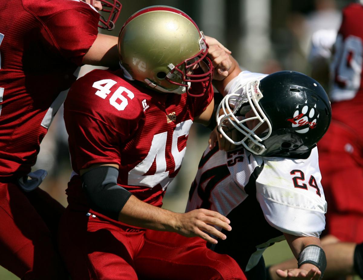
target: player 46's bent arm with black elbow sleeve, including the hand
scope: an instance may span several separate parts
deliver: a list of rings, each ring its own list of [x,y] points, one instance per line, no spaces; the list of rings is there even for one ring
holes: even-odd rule
[[[100,163],[79,170],[91,209],[130,226],[172,231],[187,237],[200,236],[211,243],[217,243],[217,240],[204,231],[226,239],[222,232],[211,225],[228,231],[232,229],[230,221],[215,211],[196,209],[180,214],[139,200],[117,184],[118,168],[116,164]]]

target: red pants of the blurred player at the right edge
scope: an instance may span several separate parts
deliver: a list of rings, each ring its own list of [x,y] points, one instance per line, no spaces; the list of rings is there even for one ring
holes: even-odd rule
[[[328,203],[323,234],[332,234],[344,242],[363,242],[360,139],[352,128],[332,120],[327,133],[318,143],[321,183]]]

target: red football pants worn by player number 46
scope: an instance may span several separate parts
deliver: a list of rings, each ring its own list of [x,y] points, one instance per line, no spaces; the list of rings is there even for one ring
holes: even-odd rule
[[[72,280],[246,279],[201,238],[132,228],[66,209],[58,243]]]

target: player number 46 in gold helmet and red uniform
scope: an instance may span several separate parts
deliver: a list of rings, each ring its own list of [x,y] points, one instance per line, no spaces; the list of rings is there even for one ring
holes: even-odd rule
[[[191,124],[212,116],[207,52],[183,12],[146,8],[121,30],[123,72],[94,70],[71,87],[64,116],[74,173],[58,241],[73,280],[246,279],[232,258],[195,237],[216,243],[205,230],[225,239],[207,223],[231,230],[228,219],[160,208]],[[216,64],[218,52],[209,49]]]

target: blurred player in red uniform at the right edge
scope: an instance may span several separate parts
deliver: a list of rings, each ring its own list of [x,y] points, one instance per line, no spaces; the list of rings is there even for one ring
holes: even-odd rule
[[[362,2],[363,3],[363,2]],[[334,46],[330,75],[332,122],[318,143],[319,166],[328,211],[322,245],[326,252],[324,278],[358,274],[363,278],[363,6],[348,5],[333,41],[332,30],[321,30],[313,36],[313,65],[322,65]],[[314,76],[326,76],[315,67]],[[358,245],[357,245],[358,244]],[[272,279],[276,269],[296,266],[289,260],[270,267]]]

